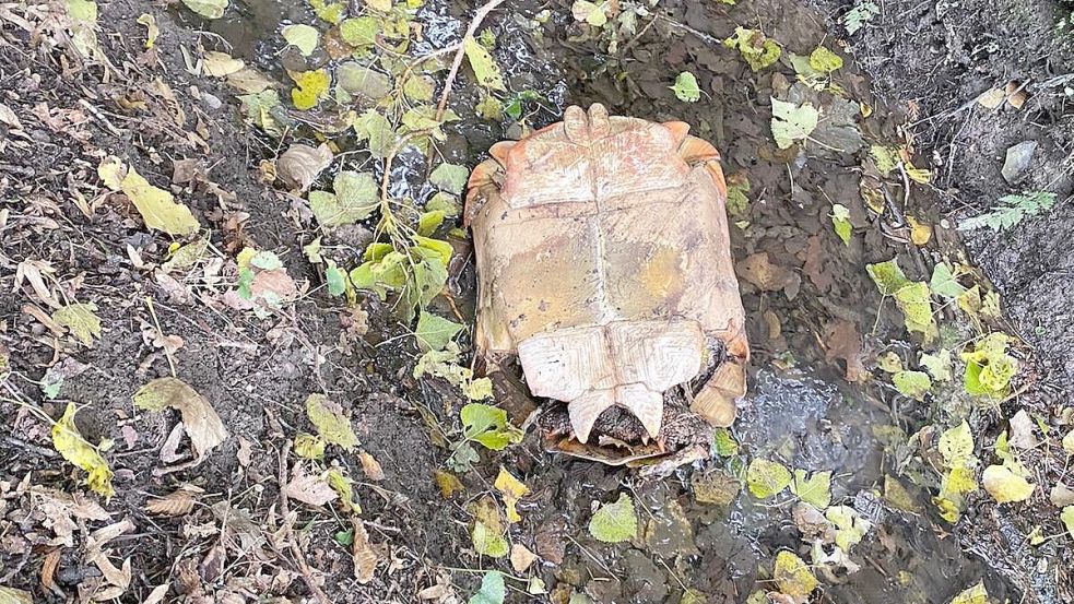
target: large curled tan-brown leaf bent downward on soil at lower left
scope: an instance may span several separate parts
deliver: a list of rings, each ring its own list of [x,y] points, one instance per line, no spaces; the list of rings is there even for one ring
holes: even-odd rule
[[[178,378],[157,378],[138,389],[133,400],[139,408],[172,407],[182,415],[196,463],[227,439],[227,429],[209,401]]]

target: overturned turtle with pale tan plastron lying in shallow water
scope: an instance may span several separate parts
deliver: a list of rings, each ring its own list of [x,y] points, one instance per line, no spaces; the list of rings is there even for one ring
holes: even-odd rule
[[[550,448],[625,463],[672,452],[683,414],[734,421],[750,346],[727,183],[719,152],[688,132],[571,106],[470,175],[474,347],[487,371],[517,359],[553,401]]]

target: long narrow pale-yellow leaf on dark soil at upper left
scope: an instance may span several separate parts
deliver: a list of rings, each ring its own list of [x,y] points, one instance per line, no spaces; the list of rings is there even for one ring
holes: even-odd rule
[[[142,215],[145,226],[168,235],[191,235],[201,228],[190,209],[176,203],[170,192],[150,185],[133,166],[125,166],[119,157],[109,155],[101,161],[97,175],[106,187],[122,191]]]

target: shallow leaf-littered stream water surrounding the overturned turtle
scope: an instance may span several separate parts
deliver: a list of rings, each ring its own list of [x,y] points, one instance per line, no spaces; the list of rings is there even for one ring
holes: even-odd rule
[[[213,23],[212,31],[226,38],[236,55],[279,72],[279,25],[310,23],[309,12],[299,2],[243,4],[236,15]],[[697,502],[689,486],[694,473],[719,469],[741,476],[750,459],[763,458],[793,469],[833,472],[833,502],[851,506],[874,522],[851,554],[861,569],[821,575],[821,601],[947,602],[981,578],[992,596],[1002,601],[1010,593],[1003,581],[963,553],[952,536],[937,536],[927,512],[899,512],[881,502],[885,476],[897,472],[892,467],[890,443],[877,435],[893,426],[910,434],[928,411],[904,415],[905,400],[898,401],[902,406],[893,407],[889,389],[849,383],[842,378],[843,362],[829,359],[828,329],[838,321],[852,323],[863,335],[866,356],[902,335],[897,315],[890,305],[881,305],[863,265],[896,253],[905,260],[907,247],[866,221],[858,149],[839,151],[843,149],[839,145],[854,144],[852,133],[831,118],[817,135],[827,135],[833,144],[796,156],[776,150],[764,106],[770,96],[791,88],[793,81],[774,76],[775,70],[753,73],[736,55],[713,43],[729,36],[744,12],[732,17],[699,4],[670,2],[660,19],[639,17],[638,28],[645,27],[646,33],[625,40],[623,46],[629,46],[625,54],[610,52],[601,40],[586,38],[585,28],[558,5],[545,27],[532,24],[545,8],[534,2],[519,2],[489,21],[498,40],[495,55],[511,91],[530,90],[542,97],[527,105],[528,127],[555,121],[568,104],[593,102],[616,115],[689,122],[695,134],[720,147],[728,175],[748,177],[751,205],[740,217],[744,225],[732,228],[735,259],[767,252],[772,264],[795,277],[777,291],[763,291],[743,280],[754,370],[733,428],[741,445],[737,455],[713,458],[650,483],[595,463],[539,458],[527,477],[534,496],[523,502],[520,533],[567,535],[560,538],[565,541],[562,561],[541,568],[546,585],[558,590],[558,595],[586,592],[600,602],[678,602],[686,588],[709,594],[710,601],[743,602],[756,589],[770,588],[771,560],[778,550],[795,550],[809,559],[809,547],[803,546],[792,518],[796,499],[786,492],[768,500],[740,493],[729,507],[711,506]],[[428,2],[418,16],[426,24],[424,40],[415,45],[414,54],[457,42],[469,5]],[[751,8],[788,50],[807,55],[826,37],[821,20],[796,2],[759,1]],[[542,32],[540,37],[536,31]],[[678,102],[669,91],[680,71],[698,76],[703,87],[698,103]],[[858,119],[855,128],[870,140],[888,140],[900,117],[874,103],[868,82],[850,61],[839,78],[851,98],[874,109],[873,117]],[[448,140],[438,153],[473,166],[493,142],[517,137],[521,130],[506,118],[500,123],[475,119],[472,108],[480,93],[470,82],[463,76],[456,83],[451,106],[462,120],[447,129]],[[791,91],[795,93],[817,98],[828,116],[841,110],[836,106],[841,102],[830,95]],[[359,159],[361,154],[355,161]],[[418,154],[398,157],[392,196],[424,201],[433,192],[424,185],[426,168]],[[833,203],[850,209],[855,227],[868,227],[850,246],[831,233]],[[929,213],[929,209],[914,211]],[[909,258],[905,267],[924,268],[921,252],[912,246]],[[461,273],[456,292],[463,309],[472,308],[470,273]],[[635,495],[641,536],[619,545],[595,542],[583,530],[593,504],[614,499],[621,485]],[[919,509],[925,510],[928,494],[918,489],[913,495]]]

